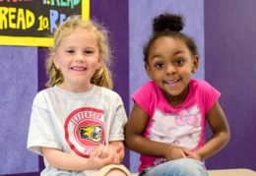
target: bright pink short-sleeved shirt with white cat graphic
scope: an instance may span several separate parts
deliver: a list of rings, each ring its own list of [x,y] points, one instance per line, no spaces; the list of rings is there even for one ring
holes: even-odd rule
[[[145,138],[196,150],[205,143],[206,113],[221,93],[202,80],[191,80],[182,105],[173,108],[155,82],[148,82],[132,98],[149,115]],[[139,171],[164,162],[163,157],[141,155]]]

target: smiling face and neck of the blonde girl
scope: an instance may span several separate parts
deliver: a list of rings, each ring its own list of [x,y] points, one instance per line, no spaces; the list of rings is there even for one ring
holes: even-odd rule
[[[59,87],[78,92],[93,88],[90,81],[101,60],[96,37],[89,29],[63,36],[53,54],[54,65],[64,77]]]

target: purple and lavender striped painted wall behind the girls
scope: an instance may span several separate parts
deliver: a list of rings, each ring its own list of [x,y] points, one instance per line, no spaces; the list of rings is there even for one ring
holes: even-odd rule
[[[209,169],[256,168],[255,9],[254,0],[91,1],[91,17],[110,32],[114,89],[127,113],[133,105],[130,95],[149,80],[142,50],[152,32],[151,20],[163,12],[184,15],[183,31],[195,38],[200,53],[194,78],[221,90],[220,103],[231,130],[228,146],[206,160]],[[47,81],[46,51],[0,46],[0,53],[0,175],[36,176],[43,168],[42,159],[26,145],[32,99]],[[124,164],[137,171],[138,154],[126,150]]]

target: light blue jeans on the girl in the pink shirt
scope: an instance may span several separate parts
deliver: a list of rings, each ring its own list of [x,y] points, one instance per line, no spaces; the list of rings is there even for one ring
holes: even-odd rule
[[[208,176],[205,164],[191,158],[180,158],[144,169],[140,176]]]

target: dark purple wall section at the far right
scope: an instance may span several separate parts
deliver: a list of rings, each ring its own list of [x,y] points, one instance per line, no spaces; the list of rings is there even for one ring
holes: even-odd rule
[[[206,80],[220,99],[231,139],[210,169],[256,169],[256,1],[205,1]]]

